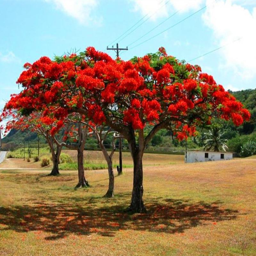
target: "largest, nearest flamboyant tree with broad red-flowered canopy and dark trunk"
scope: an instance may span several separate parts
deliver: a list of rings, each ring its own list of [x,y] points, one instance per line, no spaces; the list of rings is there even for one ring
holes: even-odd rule
[[[54,115],[65,118],[76,112],[96,125],[112,128],[129,143],[133,159],[133,190],[129,210],[145,211],[142,157],[148,142],[160,129],[172,130],[179,140],[193,136],[196,127],[211,117],[241,125],[250,118],[212,76],[199,66],[168,56],[164,48],[130,61],[113,60],[88,47],[79,55],[42,57],[25,64],[18,79],[29,112],[42,105],[58,105]],[[151,127],[147,134],[145,125]]]

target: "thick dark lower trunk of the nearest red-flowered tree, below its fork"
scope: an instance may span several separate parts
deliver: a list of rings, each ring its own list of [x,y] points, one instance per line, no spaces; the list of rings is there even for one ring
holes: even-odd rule
[[[132,202],[128,210],[131,212],[146,212],[143,204],[143,170],[142,157],[133,156],[133,188]]]

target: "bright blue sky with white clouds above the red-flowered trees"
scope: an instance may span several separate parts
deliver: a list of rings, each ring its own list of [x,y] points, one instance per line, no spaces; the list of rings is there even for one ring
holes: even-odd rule
[[[148,20],[121,40],[120,47],[131,44],[177,11],[137,43],[205,5],[202,11],[120,57],[128,60],[164,46],[168,54],[191,60],[228,44],[190,63],[199,64],[226,89],[254,89],[256,0],[0,0],[0,109],[11,93],[19,92],[16,80],[25,62],[87,46],[115,57],[113,51],[106,50],[107,45],[111,47],[113,40],[145,15],[141,22]],[[238,38],[242,39],[232,43]]]

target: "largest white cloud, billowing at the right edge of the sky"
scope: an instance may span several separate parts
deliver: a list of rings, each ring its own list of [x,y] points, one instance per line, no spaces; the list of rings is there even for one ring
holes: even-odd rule
[[[231,0],[207,0],[206,4],[205,24],[213,30],[219,46],[227,44],[220,50],[221,66],[232,68],[243,78],[256,76],[256,7],[251,13]],[[238,38],[242,39],[234,42]]]

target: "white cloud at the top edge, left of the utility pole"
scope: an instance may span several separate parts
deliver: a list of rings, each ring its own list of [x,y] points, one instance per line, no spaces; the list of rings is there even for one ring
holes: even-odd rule
[[[98,0],[44,0],[53,3],[58,10],[66,13],[84,25],[101,25],[102,17],[92,17],[92,10]]]

